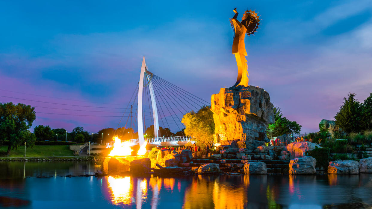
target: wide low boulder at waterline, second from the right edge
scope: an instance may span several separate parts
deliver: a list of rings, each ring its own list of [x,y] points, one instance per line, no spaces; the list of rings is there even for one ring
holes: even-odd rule
[[[328,173],[332,174],[358,174],[359,163],[355,160],[336,160],[329,162]]]

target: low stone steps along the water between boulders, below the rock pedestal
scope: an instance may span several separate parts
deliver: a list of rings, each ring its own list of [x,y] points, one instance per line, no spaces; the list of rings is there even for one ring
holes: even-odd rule
[[[241,159],[192,159],[190,163],[180,163],[180,167],[191,167],[197,170],[200,166],[207,163],[219,164],[219,169],[227,173],[244,173],[244,163],[260,161],[266,163],[267,173],[285,173],[289,171],[289,160],[241,160]]]

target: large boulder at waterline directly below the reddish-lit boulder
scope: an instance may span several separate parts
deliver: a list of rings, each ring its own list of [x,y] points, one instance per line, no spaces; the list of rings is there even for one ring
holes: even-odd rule
[[[289,162],[289,174],[314,174],[317,160],[314,157],[305,156],[292,159]]]

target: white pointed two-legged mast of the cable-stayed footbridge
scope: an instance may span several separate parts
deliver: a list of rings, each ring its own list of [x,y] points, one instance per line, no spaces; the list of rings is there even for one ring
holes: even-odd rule
[[[138,141],[140,146],[144,143],[145,139],[143,136],[143,118],[142,118],[142,95],[143,95],[143,81],[144,78],[147,80],[148,88],[150,90],[151,106],[153,108],[154,116],[154,137],[158,137],[159,132],[159,122],[158,122],[158,110],[156,107],[155,93],[153,88],[153,82],[151,81],[153,74],[150,71],[147,71],[147,65],[145,61],[145,56],[142,59],[140,82],[138,84],[138,102],[137,102],[137,121],[138,121]]]

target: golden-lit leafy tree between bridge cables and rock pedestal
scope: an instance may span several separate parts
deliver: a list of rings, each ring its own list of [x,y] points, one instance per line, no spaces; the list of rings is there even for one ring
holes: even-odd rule
[[[198,144],[207,145],[213,141],[214,120],[211,107],[203,106],[198,112],[191,111],[183,115],[182,123],[186,126],[185,134],[194,137]]]

